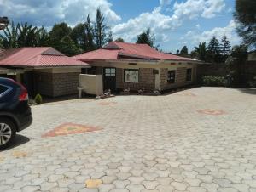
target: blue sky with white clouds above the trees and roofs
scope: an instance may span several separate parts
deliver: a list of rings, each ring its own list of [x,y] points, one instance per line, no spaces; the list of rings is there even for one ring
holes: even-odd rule
[[[135,42],[150,27],[155,45],[176,53],[212,36],[220,40],[226,35],[231,45],[239,44],[234,7],[234,0],[0,0],[0,16],[50,29],[62,21],[74,26],[87,14],[93,20],[96,8],[101,8],[114,38]]]

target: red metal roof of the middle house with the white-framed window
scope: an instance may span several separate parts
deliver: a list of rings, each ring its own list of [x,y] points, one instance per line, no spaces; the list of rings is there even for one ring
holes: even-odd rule
[[[156,59],[156,60],[184,60],[195,61],[195,59],[184,58],[174,54],[164,54],[147,44],[135,44],[127,42],[110,42],[105,47],[96,51],[79,54],[73,57],[79,60],[102,60],[102,59]]]

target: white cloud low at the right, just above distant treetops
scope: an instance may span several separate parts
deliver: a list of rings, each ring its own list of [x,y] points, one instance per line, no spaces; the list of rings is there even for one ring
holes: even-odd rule
[[[197,44],[199,42],[209,42],[213,36],[217,37],[218,40],[221,40],[224,35],[229,38],[231,45],[240,43],[241,38],[236,34],[235,20],[230,20],[230,23],[225,27],[215,27],[211,31],[203,31],[202,33],[188,31],[185,37]]]

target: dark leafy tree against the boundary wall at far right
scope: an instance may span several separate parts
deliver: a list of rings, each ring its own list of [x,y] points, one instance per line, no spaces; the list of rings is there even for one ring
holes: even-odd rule
[[[245,63],[247,61],[247,46],[240,45],[232,48],[229,58],[226,60],[228,76],[233,86],[244,85],[245,82]]]

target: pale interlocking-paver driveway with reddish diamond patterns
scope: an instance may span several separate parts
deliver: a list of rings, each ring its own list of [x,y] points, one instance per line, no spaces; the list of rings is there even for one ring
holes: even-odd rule
[[[0,152],[0,191],[256,191],[256,93],[193,88],[164,96],[33,106]]]

